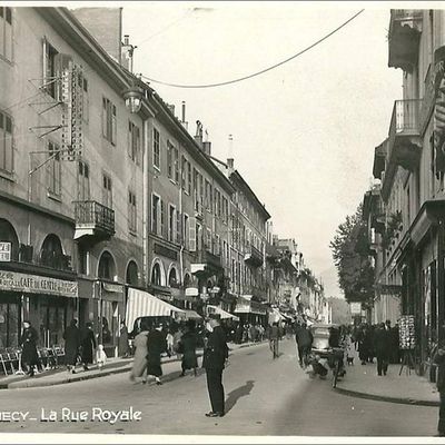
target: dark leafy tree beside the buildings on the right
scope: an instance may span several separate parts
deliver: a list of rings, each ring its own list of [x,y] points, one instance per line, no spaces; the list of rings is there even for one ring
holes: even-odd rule
[[[374,297],[374,267],[368,258],[369,241],[362,205],[338,226],[329,247],[346,300],[369,303]]]

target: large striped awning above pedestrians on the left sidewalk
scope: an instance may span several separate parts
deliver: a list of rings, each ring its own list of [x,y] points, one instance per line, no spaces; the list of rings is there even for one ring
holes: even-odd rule
[[[185,310],[162,301],[147,291],[128,288],[126,314],[128,329],[132,329],[135,320],[139,317],[170,317],[174,313],[185,314]]]

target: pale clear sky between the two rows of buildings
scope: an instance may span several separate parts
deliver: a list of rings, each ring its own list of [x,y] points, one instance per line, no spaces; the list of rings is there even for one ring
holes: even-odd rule
[[[218,88],[150,82],[195,134],[204,123],[212,155],[230,157],[273,216],[295,238],[327,297],[340,296],[329,241],[372,184],[374,148],[387,136],[402,71],[388,68],[384,2],[122,3],[135,72],[170,83],[224,82],[305,49],[360,9],[340,31],[298,58]],[[398,6],[399,7],[399,6]]]

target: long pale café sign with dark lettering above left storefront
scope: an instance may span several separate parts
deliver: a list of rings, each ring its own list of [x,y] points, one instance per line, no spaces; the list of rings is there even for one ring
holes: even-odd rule
[[[76,298],[78,296],[78,283],[0,270],[0,290]]]

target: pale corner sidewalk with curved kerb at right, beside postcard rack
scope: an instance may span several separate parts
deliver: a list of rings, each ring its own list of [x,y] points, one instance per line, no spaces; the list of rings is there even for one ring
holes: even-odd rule
[[[346,375],[338,380],[336,390],[354,397],[393,402],[408,405],[438,406],[439,395],[435,384],[411,374],[402,365],[389,365],[386,376],[377,375],[377,360],[362,365],[356,356],[354,366],[346,365]]]

